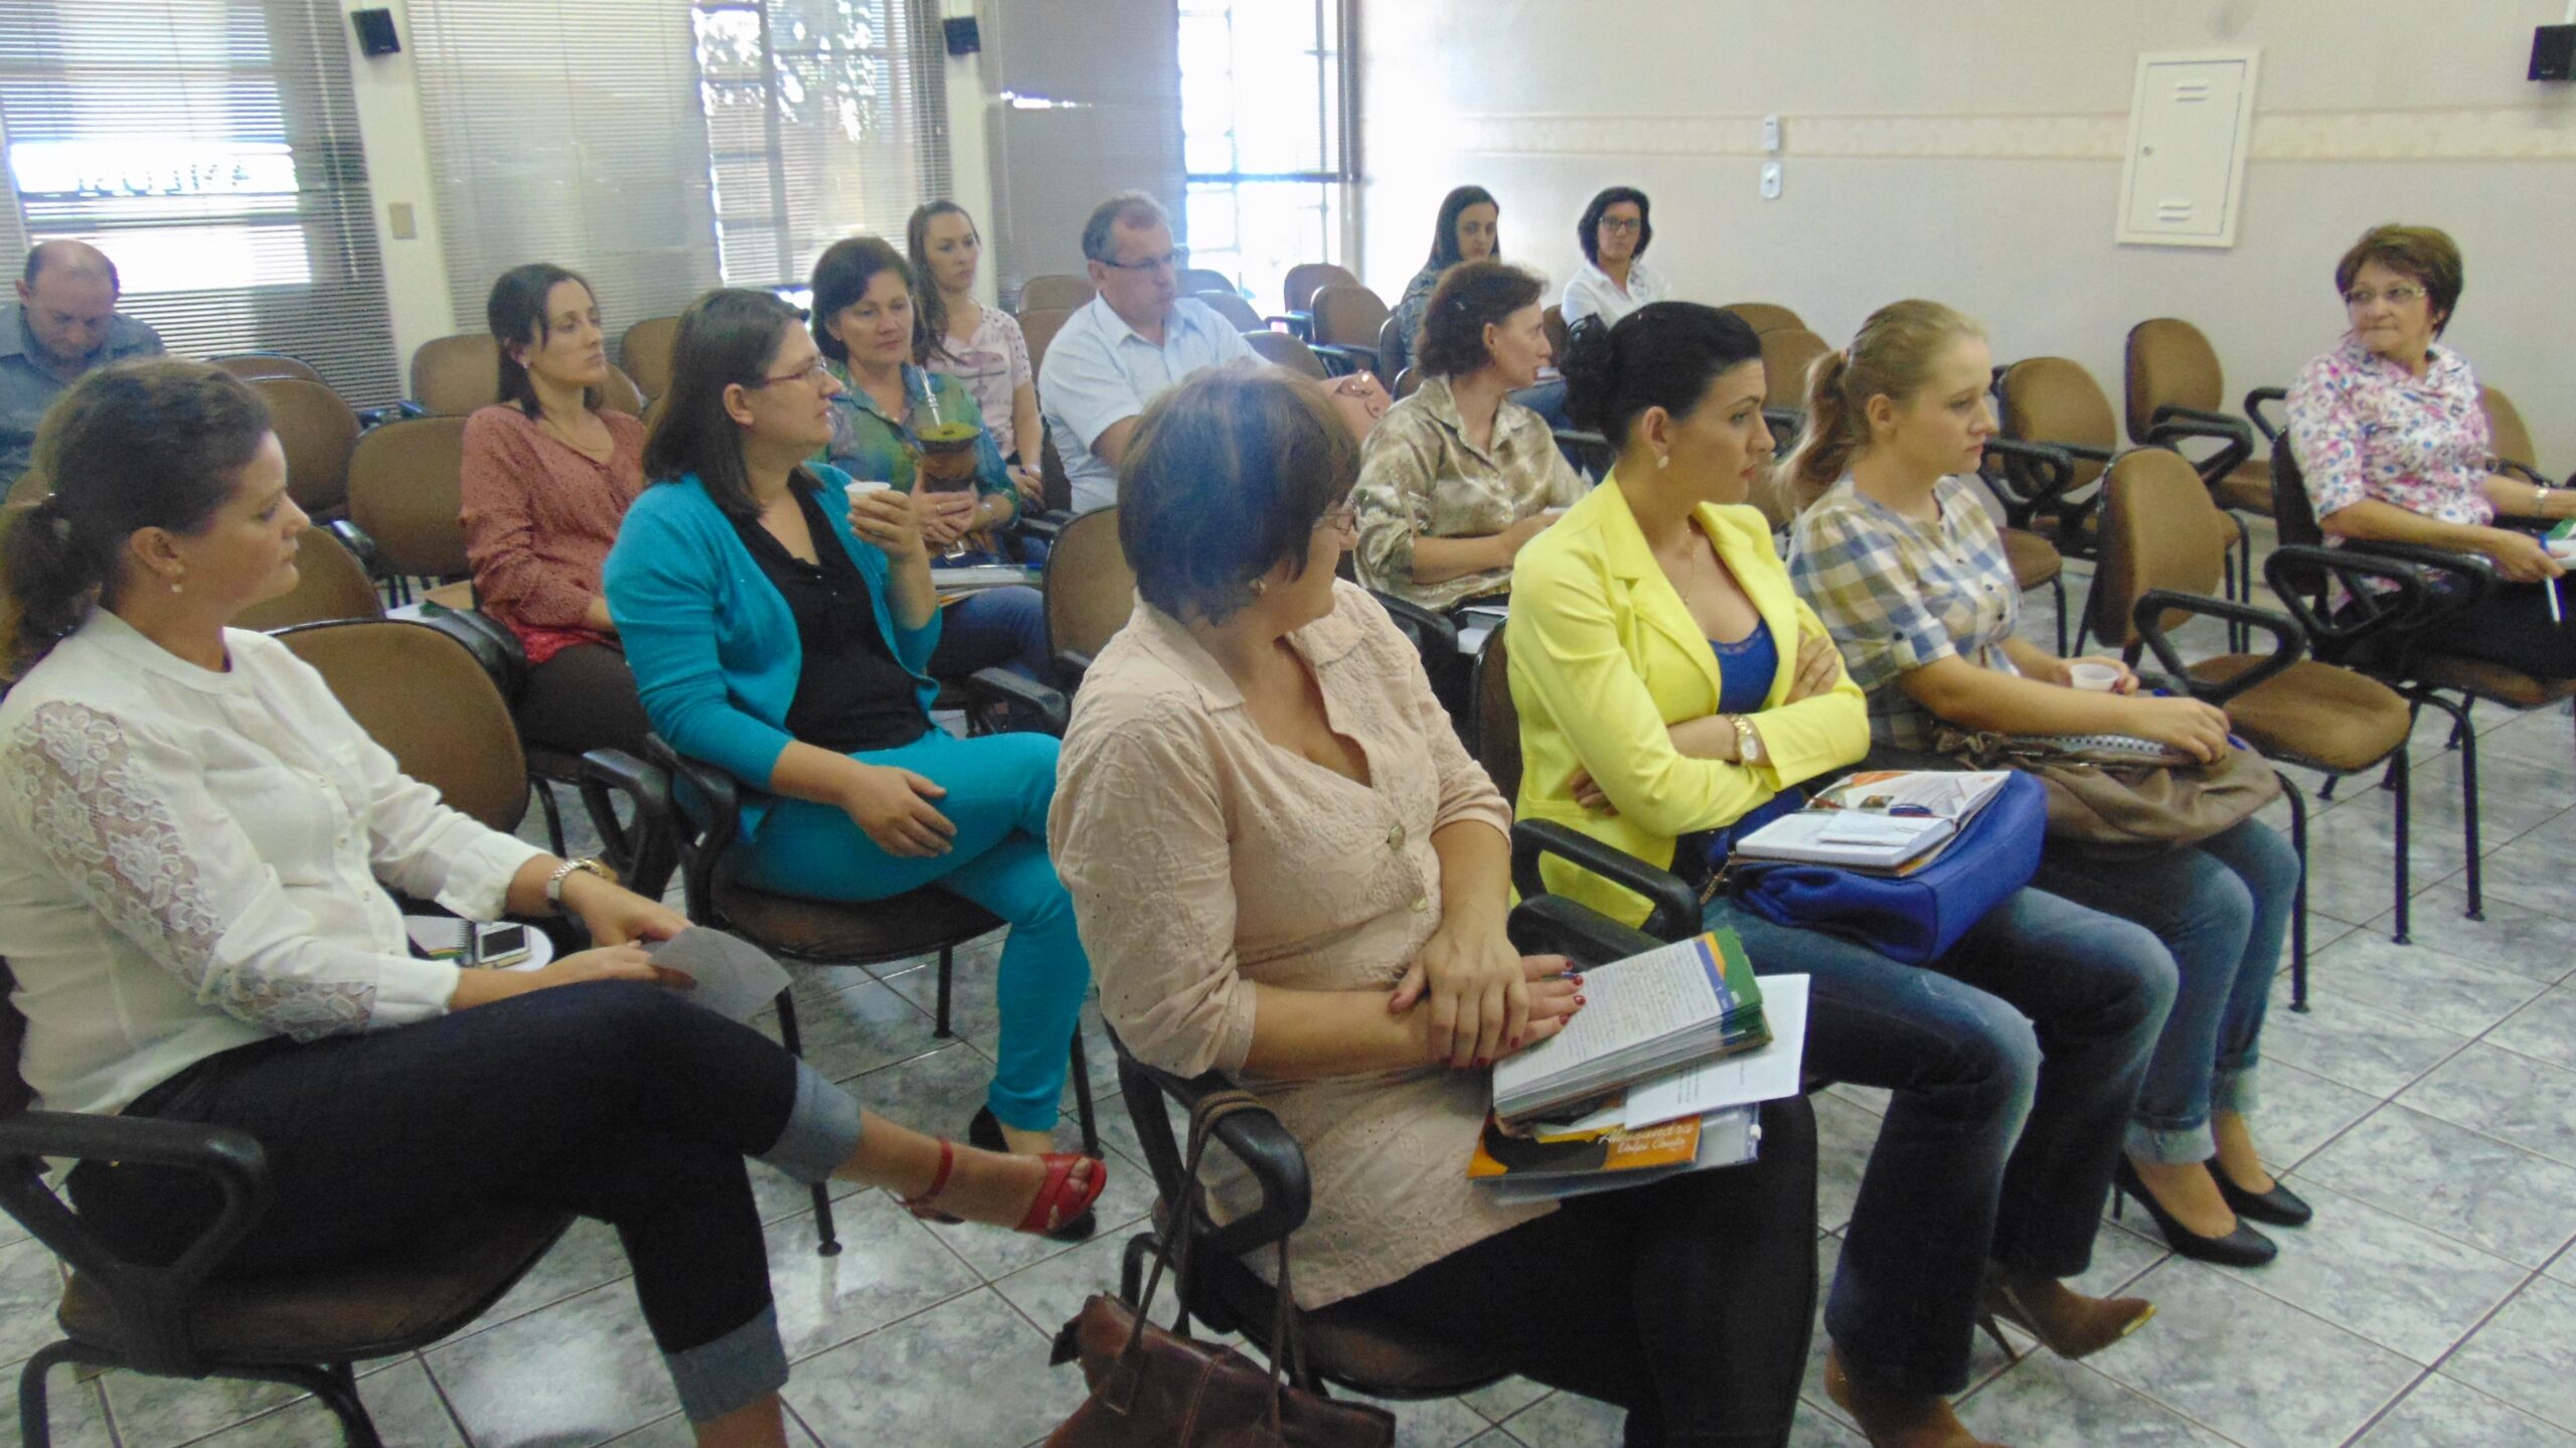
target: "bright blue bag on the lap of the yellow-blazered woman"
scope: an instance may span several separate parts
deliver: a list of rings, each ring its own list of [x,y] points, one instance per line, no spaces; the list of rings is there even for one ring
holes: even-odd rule
[[[1728,840],[1783,814],[1747,814]],[[1901,966],[1929,966],[1971,925],[2030,884],[2048,843],[2048,786],[2014,773],[1929,863],[1880,876],[1842,866],[1728,858],[1710,889],[1728,889],[1744,910],[1772,925],[1842,935]]]

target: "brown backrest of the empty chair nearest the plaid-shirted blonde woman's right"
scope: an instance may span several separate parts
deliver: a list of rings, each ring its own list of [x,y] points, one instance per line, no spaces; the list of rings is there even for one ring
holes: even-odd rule
[[[2097,639],[2138,642],[2136,608],[2154,590],[2218,593],[2236,523],[2210,500],[2200,469],[2172,448],[2130,448],[2102,482],[2102,554],[2087,611]],[[2172,613],[2166,626],[2179,624]]]

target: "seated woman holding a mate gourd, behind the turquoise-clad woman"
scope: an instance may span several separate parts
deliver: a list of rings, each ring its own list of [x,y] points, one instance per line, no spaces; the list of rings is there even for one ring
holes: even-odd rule
[[[992,533],[1020,515],[1020,490],[966,384],[922,371],[935,338],[914,307],[912,268],[894,247],[848,237],[814,260],[814,343],[840,384],[824,459],[855,479],[920,495],[933,554],[966,549],[933,567],[1002,562]],[[943,613],[933,678],[992,665],[1036,678],[1046,667],[1046,600],[1036,587],[987,587]]]

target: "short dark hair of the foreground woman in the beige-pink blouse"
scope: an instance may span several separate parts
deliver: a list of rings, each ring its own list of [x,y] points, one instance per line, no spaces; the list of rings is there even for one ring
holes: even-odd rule
[[[1118,549],[1146,603],[1224,624],[1280,559],[1303,572],[1314,526],[1358,477],[1360,446],[1314,386],[1252,363],[1203,371],[1128,438]]]

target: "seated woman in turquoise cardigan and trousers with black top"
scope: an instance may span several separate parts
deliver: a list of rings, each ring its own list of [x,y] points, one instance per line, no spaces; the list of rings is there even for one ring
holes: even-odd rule
[[[930,724],[930,502],[853,497],[850,474],[806,461],[832,438],[835,392],[786,301],[693,301],[644,451],[652,487],[608,554],[608,608],[654,729],[750,786],[744,881],[814,899],[940,886],[1010,922],[1002,1064],[969,1134],[1041,1152],[1090,984],[1046,863],[1056,742]],[[1084,1214],[1072,1234],[1087,1232]]]

